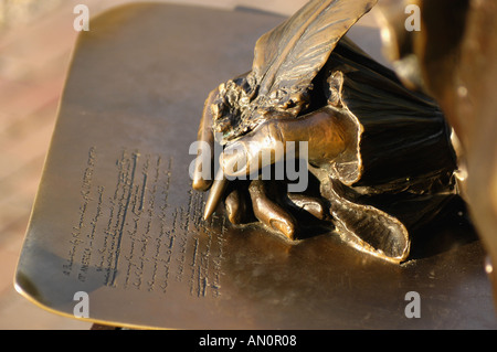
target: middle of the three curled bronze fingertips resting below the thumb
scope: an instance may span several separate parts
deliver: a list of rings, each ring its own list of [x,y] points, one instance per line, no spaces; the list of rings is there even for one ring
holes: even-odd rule
[[[283,234],[289,239],[295,238],[296,221],[278,204],[267,198],[266,182],[255,180],[248,186],[254,215],[269,228]]]

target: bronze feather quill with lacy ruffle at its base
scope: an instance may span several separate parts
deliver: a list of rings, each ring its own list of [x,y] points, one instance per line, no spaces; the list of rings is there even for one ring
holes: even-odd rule
[[[212,108],[222,145],[271,118],[297,117],[338,41],[377,0],[311,0],[262,35],[251,73],[220,87]]]

